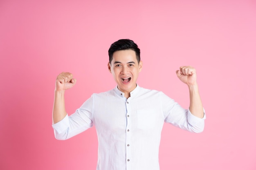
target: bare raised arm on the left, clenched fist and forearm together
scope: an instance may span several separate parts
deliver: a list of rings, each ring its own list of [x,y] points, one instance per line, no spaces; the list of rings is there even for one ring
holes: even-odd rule
[[[76,79],[68,72],[63,72],[57,76],[55,83],[55,96],[52,111],[52,122],[56,124],[61,121],[66,115],[64,94],[67,89],[72,88],[76,84]]]

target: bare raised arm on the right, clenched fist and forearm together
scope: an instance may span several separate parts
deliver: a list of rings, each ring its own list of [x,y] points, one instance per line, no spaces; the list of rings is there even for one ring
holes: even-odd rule
[[[202,101],[198,91],[198,84],[196,82],[196,70],[192,66],[181,66],[180,70],[176,71],[177,77],[189,87],[190,97],[190,112],[196,117],[204,117],[204,110]]]

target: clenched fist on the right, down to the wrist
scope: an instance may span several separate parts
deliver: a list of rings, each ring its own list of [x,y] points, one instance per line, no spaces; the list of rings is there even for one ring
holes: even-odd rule
[[[196,84],[196,71],[192,66],[181,66],[180,70],[176,71],[178,78],[187,85]]]

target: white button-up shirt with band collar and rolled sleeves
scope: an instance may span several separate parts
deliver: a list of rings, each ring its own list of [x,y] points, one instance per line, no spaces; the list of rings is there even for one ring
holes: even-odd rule
[[[117,87],[93,94],[53,128],[56,139],[65,140],[94,125],[99,141],[97,170],[159,170],[164,121],[190,132],[202,132],[204,119],[164,93],[137,85],[128,99]]]

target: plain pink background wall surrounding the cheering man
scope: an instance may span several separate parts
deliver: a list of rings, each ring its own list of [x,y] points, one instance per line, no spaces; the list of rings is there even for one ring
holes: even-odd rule
[[[91,128],[54,138],[56,76],[74,74],[66,93],[74,110],[115,87],[108,48],[121,38],[141,49],[138,84],[189,106],[175,75],[197,68],[207,113],[204,132],[165,124],[161,170],[256,170],[255,0],[0,0],[0,169],[95,170]]]

